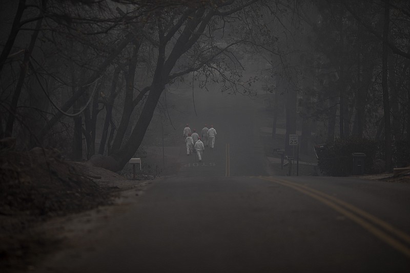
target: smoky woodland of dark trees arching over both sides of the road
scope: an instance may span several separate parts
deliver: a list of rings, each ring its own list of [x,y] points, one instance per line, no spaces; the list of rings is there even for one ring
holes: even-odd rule
[[[56,148],[119,171],[154,111],[167,120],[164,90],[188,81],[267,94],[272,136],[284,116],[288,152],[298,130],[304,151],[355,136],[383,142],[377,154],[386,171],[403,161],[395,153],[410,140],[405,1],[9,0],[1,7],[0,136],[15,138],[20,151]]]

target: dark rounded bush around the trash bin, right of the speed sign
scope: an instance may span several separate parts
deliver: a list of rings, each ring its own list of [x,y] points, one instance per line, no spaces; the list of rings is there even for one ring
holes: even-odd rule
[[[327,143],[326,149],[319,156],[319,169],[325,175],[351,175],[353,171],[352,153],[364,153],[366,155],[364,172],[371,173],[377,153],[377,142],[359,137],[335,139]]]

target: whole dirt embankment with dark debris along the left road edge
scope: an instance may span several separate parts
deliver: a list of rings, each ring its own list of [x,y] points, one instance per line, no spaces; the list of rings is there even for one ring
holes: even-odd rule
[[[147,177],[144,177],[147,179]],[[65,160],[57,150],[0,149],[0,271],[27,269],[27,261],[56,242],[33,234],[45,221],[109,205],[138,185],[116,173]]]

